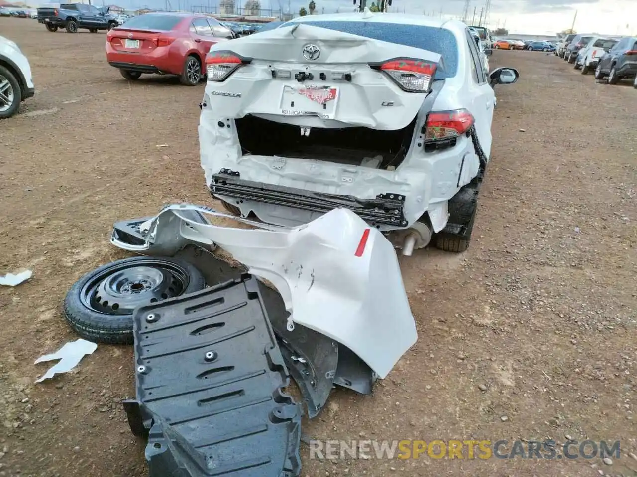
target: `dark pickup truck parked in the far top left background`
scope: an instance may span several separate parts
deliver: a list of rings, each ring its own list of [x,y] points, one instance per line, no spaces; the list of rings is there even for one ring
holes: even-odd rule
[[[108,7],[83,3],[63,3],[60,8],[38,8],[38,23],[44,24],[48,31],[64,28],[69,33],[85,29],[92,33],[117,27],[117,19],[109,15]]]

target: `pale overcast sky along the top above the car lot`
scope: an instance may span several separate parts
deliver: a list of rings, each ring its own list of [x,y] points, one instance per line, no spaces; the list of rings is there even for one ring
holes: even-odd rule
[[[70,1],[70,0],[69,0]],[[102,0],[94,0],[101,3]],[[125,8],[164,8],[167,0],[104,0]],[[168,0],[173,8],[192,8],[203,5],[211,7],[219,0]],[[235,0],[237,4],[244,0]],[[261,7],[278,10],[279,4],[287,10],[288,1],[292,11],[298,12],[309,0],[261,0]],[[354,10],[353,0],[314,0],[317,13],[341,13]],[[368,0],[371,4],[373,0]],[[469,22],[476,8],[476,22],[480,9],[486,0],[470,0]],[[459,17],[464,9],[464,0],[392,0],[390,11],[412,13],[415,15]],[[577,11],[575,30],[578,32],[598,32],[606,34],[637,34],[637,0],[491,0],[489,27],[503,26],[511,33],[554,34],[570,28]],[[626,27],[627,22],[633,22]],[[630,33],[633,32],[633,33]]]

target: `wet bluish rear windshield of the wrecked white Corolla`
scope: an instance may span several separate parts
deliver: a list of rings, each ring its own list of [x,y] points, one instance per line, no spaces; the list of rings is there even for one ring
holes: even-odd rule
[[[303,22],[303,24],[438,53],[443,60],[442,66],[436,70],[434,79],[453,78],[457,73],[458,45],[454,34],[445,29],[378,22]]]

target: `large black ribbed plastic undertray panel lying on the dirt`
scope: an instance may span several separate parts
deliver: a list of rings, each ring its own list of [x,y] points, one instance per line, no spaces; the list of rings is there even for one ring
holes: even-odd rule
[[[150,477],[299,474],[302,409],[281,391],[288,374],[256,279],[138,308],[134,338],[131,428],[151,425]]]

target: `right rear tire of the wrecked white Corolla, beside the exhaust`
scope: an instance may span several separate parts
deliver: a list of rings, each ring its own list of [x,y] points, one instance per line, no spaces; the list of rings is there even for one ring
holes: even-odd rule
[[[445,252],[461,253],[469,248],[471,232],[476,218],[478,205],[478,188],[468,184],[458,191],[449,201],[448,223],[462,225],[462,233],[450,233],[447,228],[436,233],[435,245]]]

